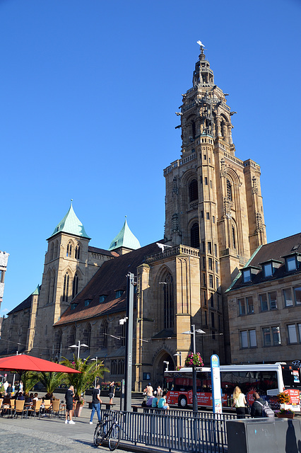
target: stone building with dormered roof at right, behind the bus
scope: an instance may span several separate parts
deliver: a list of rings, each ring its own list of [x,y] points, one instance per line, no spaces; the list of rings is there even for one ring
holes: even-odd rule
[[[227,294],[233,363],[300,360],[300,233],[260,246]]]

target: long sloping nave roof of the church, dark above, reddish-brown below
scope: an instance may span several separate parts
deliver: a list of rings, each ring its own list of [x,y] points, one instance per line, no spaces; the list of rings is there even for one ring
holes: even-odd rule
[[[77,304],[76,308],[71,309],[69,306],[54,326],[124,311],[126,309],[126,275],[129,272],[136,275],[136,269],[144,262],[145,257],[157,252],[158,246],[154,242],[118,256],[114,260],[105,261],[90,282],[72,300],[72,304]],[[124,293],[116,299],[115,291],[120,289],[123,289]],[[106,297],[105,301],[100,303],[99,299],[102,295]],[[85,306],[87,299],[90,299],[90,304]]]

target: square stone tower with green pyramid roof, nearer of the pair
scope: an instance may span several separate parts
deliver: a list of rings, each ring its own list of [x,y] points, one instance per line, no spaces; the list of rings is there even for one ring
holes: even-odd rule
[[[35,339],[30,352],[42,358],[54,356],[54,345],[57,342],[52,338],[52,325],[59,320],[73,297],[85,287],[92,276],[89,275],[88,266],[90,238],[73,210],[72,200],[69,211],[47,241]],[[97,269],[95,267],[94,272]],[[44,345],[41,345],[41,338],[45,338]]]

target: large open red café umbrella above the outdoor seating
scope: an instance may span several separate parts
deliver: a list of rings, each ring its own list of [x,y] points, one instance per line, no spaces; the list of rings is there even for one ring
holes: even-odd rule
[[[26,371],[36,372],[60,372],[60,373],[80,373],[78,369],[65,367],[56,362],[39,359],[33,355],[10,355],[0,359],[0,369],[5,371],[13,371],[20,374],[20,380],[23,373]]]

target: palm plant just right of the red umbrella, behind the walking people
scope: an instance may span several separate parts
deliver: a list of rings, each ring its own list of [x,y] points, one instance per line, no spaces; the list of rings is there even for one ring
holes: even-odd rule
[[[103,362],[89,362],[89,358],[86,359],[79,359],[73,354],[73,360],[68,360],[66,357],[63,357],[63,361],[61,365],[65,365],[66,367],[78,369],[81,373],[66,373],[64,376],[64,382],[68,386],[73,385],[74,387],[74,402],[76,403],[75,413],[76,416],[80,415],[81,408],[83,407],[83,395],[86,389],[89,389],[93,382],[95,381],[95,377],[103,378],[105,372],[110,372],[109,369],[103,365]]]

